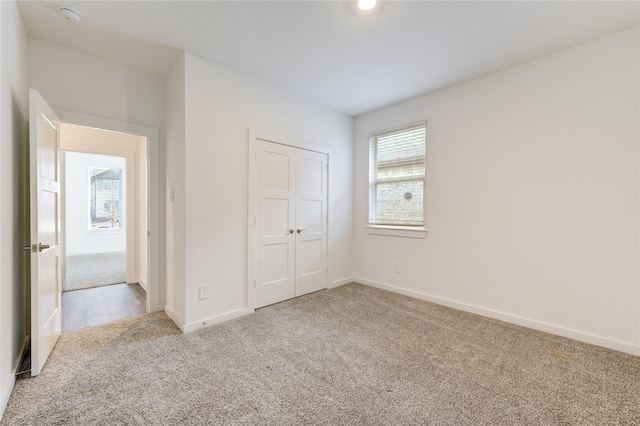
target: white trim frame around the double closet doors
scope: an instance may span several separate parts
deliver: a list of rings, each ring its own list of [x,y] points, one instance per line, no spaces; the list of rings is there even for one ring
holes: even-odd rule
[[[271,142],[279,145],[286,145],[293,148],[304,149],[307,151],[318,152],[327,155],[327,288],[331,282],[331,156],[333,149],[323,145],[306,142],[304,140],[292,138],[282,135],[270,129],[250,128],[249,129],[249,156],[248,161],[248,177],[247,177],[247,307],[256,309],[255,302],[255,285],[256,285],[256,194],[257,194],[257,150],[259,141]]]

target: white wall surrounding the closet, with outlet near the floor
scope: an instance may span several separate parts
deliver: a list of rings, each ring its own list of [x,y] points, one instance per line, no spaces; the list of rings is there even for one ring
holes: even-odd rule
[[[353,119],[189,53],[184,80],[185,181],[175,187],[174,201],[185,203],[182,325],[191,329],[247,308],[250,128],[269,127],[333,149],[329,274],[332,283],[350,280]],[[198,300],[203,284],[210,296]]]

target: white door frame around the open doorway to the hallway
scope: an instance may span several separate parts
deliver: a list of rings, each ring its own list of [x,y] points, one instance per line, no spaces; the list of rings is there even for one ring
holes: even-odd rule
[[[56,110],[60,121],[85,127],[129,133],[147,138],[147,312],[164,310],[160,283],[160,148],[159,132],[153,127],[124,121]],[[143,244],[141,241],[140,244]]]

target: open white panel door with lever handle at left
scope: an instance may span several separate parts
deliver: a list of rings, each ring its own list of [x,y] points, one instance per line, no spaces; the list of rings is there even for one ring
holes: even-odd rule
[[[47,361],[62,329],[59,120],[29,91],[31,213],[31,375]]]

